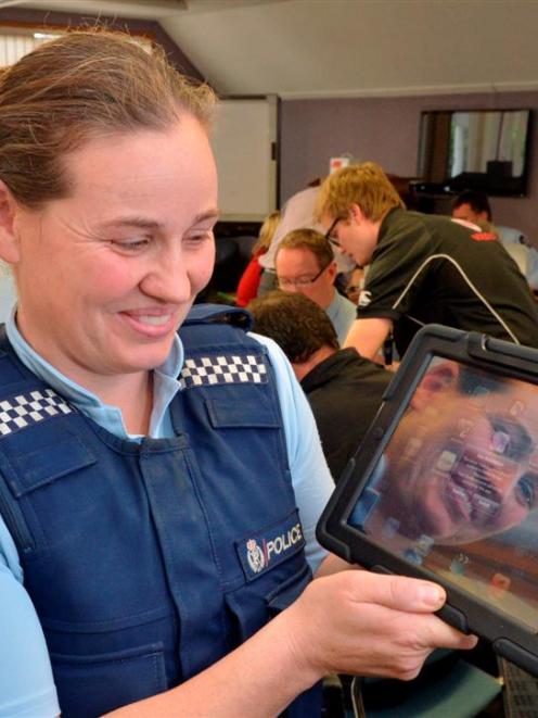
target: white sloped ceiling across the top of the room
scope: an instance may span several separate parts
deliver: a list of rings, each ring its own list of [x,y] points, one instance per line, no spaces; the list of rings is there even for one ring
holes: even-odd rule
[[[538,89],[538,0],[0,0],[158,20],[220,92]]]

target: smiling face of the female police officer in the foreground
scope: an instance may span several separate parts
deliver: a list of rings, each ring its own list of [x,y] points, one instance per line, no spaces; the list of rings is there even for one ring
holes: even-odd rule
[[[188,115],[167,131],[90,141],[64,167],[69,197],[16,210],[17,324],[91,389],[167,357],[213,272],[217,179]]]

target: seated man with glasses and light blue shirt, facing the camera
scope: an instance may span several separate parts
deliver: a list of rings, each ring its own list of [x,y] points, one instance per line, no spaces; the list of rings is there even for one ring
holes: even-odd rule
[[[342,345],[357,307],[334,287],[337,267],[329,240],[313,229],[295,229],[280,242],[274,264],[279,289],[305,294],[321,306]]]

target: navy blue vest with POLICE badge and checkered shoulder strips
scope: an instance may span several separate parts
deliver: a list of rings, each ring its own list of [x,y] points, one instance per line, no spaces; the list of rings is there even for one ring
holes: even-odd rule
[[[242,323],[239,310],[192,310],[176,436],[141,444],[85,417],[0,341],[0,511],[65,718],[178,685],[311,578],[272,369]],[[318,715],[318,698],[289,715]]]

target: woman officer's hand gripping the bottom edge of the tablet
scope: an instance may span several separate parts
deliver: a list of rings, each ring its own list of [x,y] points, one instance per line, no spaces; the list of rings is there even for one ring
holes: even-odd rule
[[[433,615],[445,599],[428,581],[342,571],[313,580],[280,620],[312,682],[331,672],[410,680],[433,650],[476,645]]]

